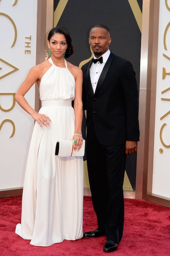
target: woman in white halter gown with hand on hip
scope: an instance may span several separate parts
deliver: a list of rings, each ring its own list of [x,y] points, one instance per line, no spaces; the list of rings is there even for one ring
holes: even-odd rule
[[[74,140],[74,150],[82,146],[83,76],[80,68],[64,59],[73,53],[65,28],[50,31],[48,48],[51,58],[34,66],[16,92],[16,101],[35,120],[16,234],[35,246],[83,237],[83,157],[55,155],[57,140]],[[35,82],[39,113],[24,98]]]

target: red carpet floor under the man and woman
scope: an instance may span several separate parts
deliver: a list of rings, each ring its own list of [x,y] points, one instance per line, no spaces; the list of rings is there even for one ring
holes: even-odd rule
[[[14,233],[21,219],[21,196],[0,199],[0,256],[169,256],[170,209],[143,200],[125,199],[124,235],[118,250],[103,252],[106,237],[34,247]],[[91,197],[84,197],[83,231],[96,228]]]

